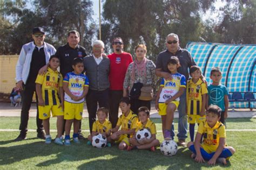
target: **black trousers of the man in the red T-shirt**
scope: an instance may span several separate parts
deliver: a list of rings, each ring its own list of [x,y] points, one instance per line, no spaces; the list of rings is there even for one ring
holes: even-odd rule
[[[112,128],[117,125],[119,103],[122,97],[123,90],[110,90],[109,92],[109,121],[112,123]]]

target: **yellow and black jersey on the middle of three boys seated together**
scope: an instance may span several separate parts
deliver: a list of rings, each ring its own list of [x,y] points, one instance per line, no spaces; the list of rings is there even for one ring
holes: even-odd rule
[[[119,116],[117,125],[121,126],[121,130],[130,130],[130,129],[136,129],[138,124],[138,116],[136,114],[133,114],[133,112],[130,110],[129,115],[125,116],[123,113]],[[126,137],[131,138],[132,135],[130,134],[124,134]]]

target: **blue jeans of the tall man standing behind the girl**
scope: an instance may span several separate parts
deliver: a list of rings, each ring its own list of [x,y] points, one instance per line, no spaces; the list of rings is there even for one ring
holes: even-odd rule
[[[178,122],[178,139],[185,140],[187,138],[187,114],[186,114],[186,91],[179,97],[179,122]],[[174,138],[174,123],[172,123],[171,136]]]

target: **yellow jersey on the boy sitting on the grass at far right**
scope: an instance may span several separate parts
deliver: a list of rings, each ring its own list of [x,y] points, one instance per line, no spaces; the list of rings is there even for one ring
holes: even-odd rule
[[[215,146],[216,148],[219,146],[219,139],[226,138],[225,126],[219,121],[213,128],[207,122],[201,122],[197,132],[203,135],[204,145]]]

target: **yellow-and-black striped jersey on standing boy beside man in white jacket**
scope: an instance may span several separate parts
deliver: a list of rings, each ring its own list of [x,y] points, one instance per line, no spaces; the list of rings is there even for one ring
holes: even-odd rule
[[[42,84],[42,97],[45,105],[57,105],[59,103],[58,91],[59,87],[62,87],[62,81],[62,75],[50,67],[44,75],[37,75],[36,83]]]

